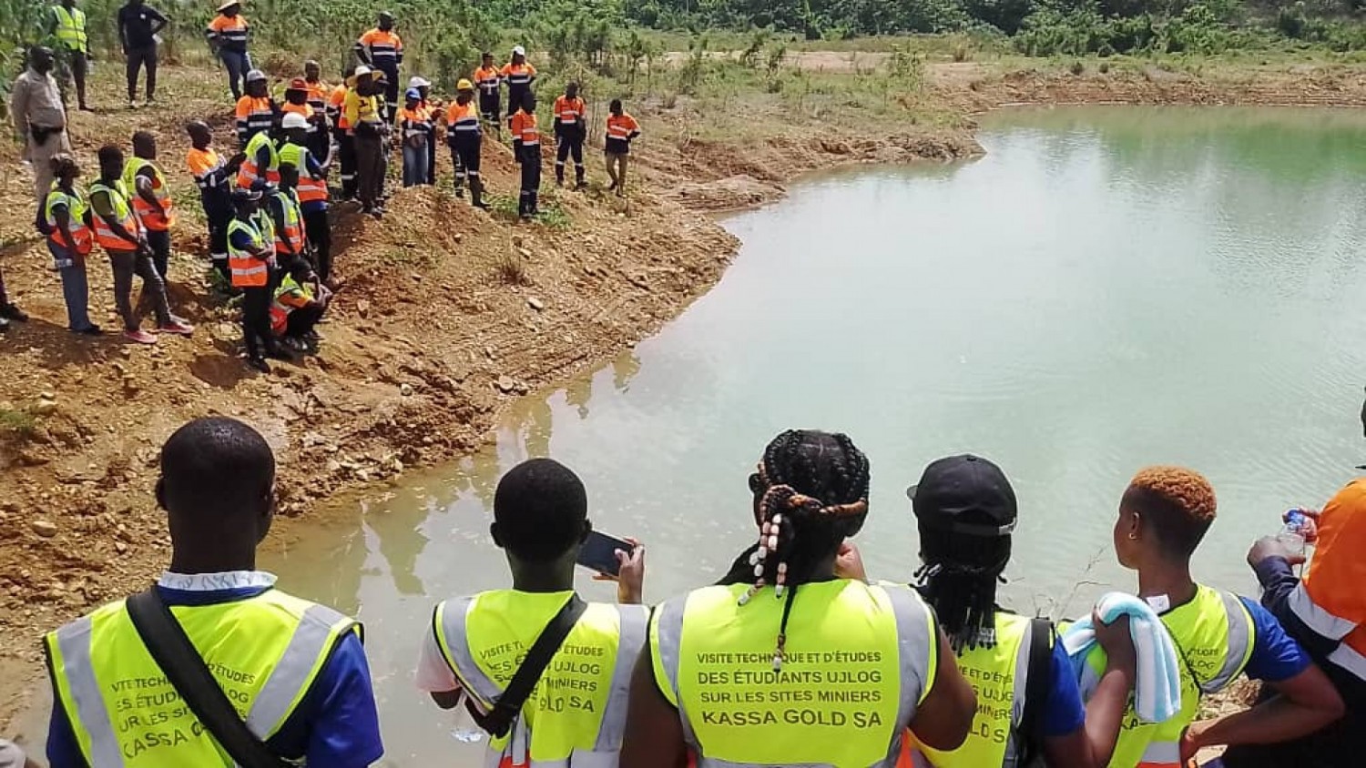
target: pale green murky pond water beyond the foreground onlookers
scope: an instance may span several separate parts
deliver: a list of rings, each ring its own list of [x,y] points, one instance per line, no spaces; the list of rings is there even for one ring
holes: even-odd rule
[[[915,567],[903,488],[977,452],[1022,502],[1018,610],[1075,614],[1131,582],[1109,531],[1152,462],[1213,479],[1198,576],[1253,588],[1253,536],[1366,460],[1366,119],[1020,110],[981,141],[977,162],[825,176],[729,220],[740,258],[660,336],[520,401],[496,447],[268,558],[365,619],[389,764],[475,764],[411,668],[436,599],[508,584],[489,509],[529,456],[574,467],[594,522],[647,543],[652,599],[749,544],[746,476],[785,427],[847,431],[872,457],[876,577]]]

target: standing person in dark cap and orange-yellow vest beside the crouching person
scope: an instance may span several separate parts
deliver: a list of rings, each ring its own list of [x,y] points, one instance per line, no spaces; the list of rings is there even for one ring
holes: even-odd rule
[[[262,184],[264,186],[264,184]],[[232,190],[234,217],[228,224],[228,270],[232,286],[242,291],[242,345],[247,366],[270,372],[266,355],[276,355],[270,334],[270,262],[275,259],[275,233],[269,220],[260,213],[260,188]]]

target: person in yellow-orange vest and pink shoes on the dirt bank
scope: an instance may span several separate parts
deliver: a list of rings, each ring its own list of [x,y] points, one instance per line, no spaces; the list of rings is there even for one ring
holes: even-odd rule
[[[113,300],[123,318],[123,336],[138,344],[156,344],[157,337],[139,327],[133,308],[133,278],[142,278],[142,291],[152,299],[157,315],[157,330],[190,336],[194,326],[171,314],[165,282],[152,263],[152,247],[146,229],[138,220],[123,183],[123,150],[115,145],[100,147],[100,177],[90,184],[89,198],[94,214],[94,239],[107,254],[113,269]]]

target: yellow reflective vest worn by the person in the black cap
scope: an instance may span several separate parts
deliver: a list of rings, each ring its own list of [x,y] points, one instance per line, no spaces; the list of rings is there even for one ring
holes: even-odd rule
[[[977,715],[967,741],[953,752],[940,752],[923,745],[918,749],[937,768],[979,768],[1004,765],[1014,768],[1018,758],[1016,739],[1024,716],[1024,692],[1029,690],[1029,658],[1033,645],[1033,622],[1027,617],[996,612],[996,645],[963,651],[958,667],[977,693]]]

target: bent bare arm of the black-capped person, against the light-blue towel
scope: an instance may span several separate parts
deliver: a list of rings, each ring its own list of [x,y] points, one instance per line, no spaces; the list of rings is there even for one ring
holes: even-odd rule
[[[1063,737],[1044,739],[1044,754],[1053,768],[1104,768],[1109,765],[1124,724],[1124,708],[1128,693],[1134,688],[1138,659],[1128,633],[1128,617],[1120,617],[1113,623],[1101,623],[1100,617],[1091,618],[1096,637],[1105,649],[1105,673],[1101,675],[1096,693],[1086,704],[1083,727]]]

